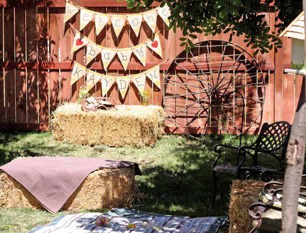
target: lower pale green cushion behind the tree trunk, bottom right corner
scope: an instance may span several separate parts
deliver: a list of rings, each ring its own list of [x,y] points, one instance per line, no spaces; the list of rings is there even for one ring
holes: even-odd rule
[[[282,212],[274,209],[269,209],[261,216],[262,223],[257,229],[259,232],[278,233],[282,228]],[[252,222],[253,227],[256,227],[258,220]],[[302,217],[297,217],[297,233],[306,233],[306,220]]]

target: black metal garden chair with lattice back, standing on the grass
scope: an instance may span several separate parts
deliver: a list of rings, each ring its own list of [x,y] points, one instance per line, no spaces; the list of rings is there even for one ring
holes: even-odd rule
[[[211,200],[211,207],[215,203],[217,193],[217,180],[223,173],[236,175],[236,179],[241,179],[244,175],[245,179],[260,178],[260,174],[264,171],[284,171],[285,153],[289,140],[291,125],[285,121],[278,121],[272,124],[264,123],[257,140],[249,146],[233,147],[224,144],[217,144],[214,146],[214,151],[218,153],[218,158],[212,165],[212,181],[213,181],[213,194]],[[221,149],[219,147],[231,148],[237,150],[237,163],[236,166],[217,164],[221,158]],[[252,153],[251,153],[251,152]],[[267,169],[259,166],[258,153],[265,153],[273,156],[279,162],[277,169]],[[242,166],[246,160],[246,155],[251,156],[253,163],[249,167]],[[242,160],[241,160],[242,157]],[[240,161],[241,160],[241,161]],[[220,174],[217,176],[217,172]]]

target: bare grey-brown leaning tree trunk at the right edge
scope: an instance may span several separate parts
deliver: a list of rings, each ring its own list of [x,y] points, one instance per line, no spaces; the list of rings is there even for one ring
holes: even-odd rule
[[[303,9],[304,12],[306,12],[306,0],[303,0]],[[306,48],[306,40],[304,41],[304,48]],[[291,127],[289,144],[286,152],[287,167],[282,200],[282,233],[297,232],[297,208],[304,167],[306,140],[305,93],[305,77],[303,77],[300,100]]]

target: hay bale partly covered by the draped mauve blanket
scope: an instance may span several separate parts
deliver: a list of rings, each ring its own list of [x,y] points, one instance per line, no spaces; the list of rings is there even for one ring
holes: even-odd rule
[[[136,192],[134,167],[103,168],[90,173],[62,208],[80,209],[132,207]],[[0,175],[0,206],[44,209],[37,199],[5,172]]]

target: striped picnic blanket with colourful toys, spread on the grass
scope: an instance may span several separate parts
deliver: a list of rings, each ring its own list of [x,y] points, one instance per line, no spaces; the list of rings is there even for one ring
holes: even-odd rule
[[[102,214],[110,219],[109,227],[100,227],[95,224],[95,218],[101,213],[78,213],[65,216],[58,216],[46,226],[38,226],[28,233],[102,233],[102,232],[144,232],[153,233],[155,230],[150,227],[143,227],[142,220],[148,224],[163,226],[164,230],[159,232],[183,232],[183,233],[215,233],[219,226],[224,224],[227,217],[202,217],[189,218],[181,216],[169,216],[142,212],[136,216],[115,216],[114,212]],[[131,223],[136,228],[127,229]]]

